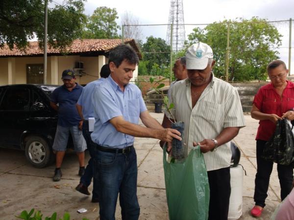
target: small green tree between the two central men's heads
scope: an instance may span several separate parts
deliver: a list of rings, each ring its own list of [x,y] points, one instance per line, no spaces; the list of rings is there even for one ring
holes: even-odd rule
[[[151,73],[154,64],[160,69],[167,68],[170,63],[170,45],[168,45],[165,40],[161,38],[154,38],[150,36],[147,38],[146,43],[142,46],[143,61],[148,61],[146,63],[147,71]],[[153,68],[158,70],[157,67]]]

